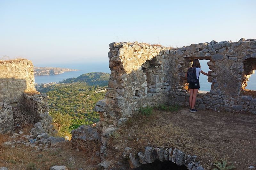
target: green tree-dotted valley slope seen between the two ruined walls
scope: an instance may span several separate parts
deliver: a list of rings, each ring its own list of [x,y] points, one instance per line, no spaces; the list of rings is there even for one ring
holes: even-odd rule
[[[92,75],[95,76],[94,73]],[[39,90],[48,96],[49,113],[53,118],[53,124],[59,130],[59,136],[70,136],[70,131],[80,125],[92,124],[99,120],[98,112],[94,112],[93,108],[99,100],[104,98],[106,92],[96,93],[95,91],[98,90],[96,82],[105,80],[98,78],[95,81],[95,87],[95,85],[80,82],[79,77],[74,78],[76,82],[58,83]]]

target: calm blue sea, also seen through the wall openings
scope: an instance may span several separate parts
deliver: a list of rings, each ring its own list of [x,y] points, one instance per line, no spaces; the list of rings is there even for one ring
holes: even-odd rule
[[[201,69],[204,72],[210,71],[208,65],[208,60],[200,60]],[[60,68],[68,68],[68,69],[76,69],[79,71],[68,71],[62,74],[56,75],[45,75],[45,76],[35,76],[35,83],[50,83],[50,82],[60,82],[67,78],[76,78],[82,74],[90,73],[90,72],[105,72],[110,73],[110,69],[108,68],[108,62],[97,62],[97,63],[69,63],[69,64],[54,64],[51,63],[47,65],[47,67],[60,67]],[[36,67],[45,67],[45,66],[37,66]],[[207,76],[200,74],[200,89],[199,92],[209,92],[211,90],[212,83],[207,81]],[[246,89],[256,90],[256,74],[252,74],[247,82],[248,85]]]

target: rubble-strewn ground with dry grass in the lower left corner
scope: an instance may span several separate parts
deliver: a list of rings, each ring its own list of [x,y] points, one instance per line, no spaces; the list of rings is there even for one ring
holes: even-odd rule
[[[100,163],[98,157],[76,150],[65,138],[43,133],[33,139],[31,132],[22,129],[19,133],[0,135],[0,169],[90,170]]]

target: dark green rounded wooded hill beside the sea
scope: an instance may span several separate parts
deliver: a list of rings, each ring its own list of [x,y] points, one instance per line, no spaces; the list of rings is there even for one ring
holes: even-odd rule
[[[92,72],[82,74],[77,78],[68,78],[66,80],[61,81],[60,83],[85,82],[87,85],[107,86],[109,75],[109,73]]]

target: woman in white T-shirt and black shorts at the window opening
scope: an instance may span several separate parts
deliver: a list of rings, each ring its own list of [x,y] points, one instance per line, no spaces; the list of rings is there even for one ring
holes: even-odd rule
[[[208,73],[205,73],[202,69],[201,69],[201,65],[199,63],[198,59],[193,60],[193,64],[192,64],[192,68],[196,68],[196,79],[197,82],[193,83],[190,82],[188,85],[189,88],[189,105],[190,105],[190,112],[197,112],[197,110],[194,108],[195,104],[196,104],[196,96],[197,96],[197,92],[198,89],[200,88],[200,84],[199,84],[199,74],[202,73],[206,76],[209,76]],[[186,78],[187,78],[187,74],[186,74]]]

